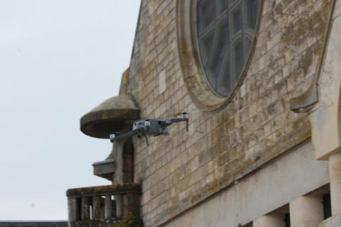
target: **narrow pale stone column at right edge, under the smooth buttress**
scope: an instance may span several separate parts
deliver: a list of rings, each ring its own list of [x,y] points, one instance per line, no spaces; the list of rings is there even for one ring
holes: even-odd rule
[[[330,199],[332,216],[341,215],[341,152],[329,157]]]

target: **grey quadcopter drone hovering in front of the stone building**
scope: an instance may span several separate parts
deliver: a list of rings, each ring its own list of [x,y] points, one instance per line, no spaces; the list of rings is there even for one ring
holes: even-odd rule
[[[186,131],[188,131],[188,114],[182,113],[182,118],[171,118],[171,119],[148,119],[136,121],[133,123],[133,129],[129,133],[124,133],[119,135],[119,133],[112,133],[109,135],[110,142],[122,140],[125,138],[137,135],[138,138],[144,137],[146,139],[146,144],[148,143],[148,135],[158,136],[158,135],[169,135],[171,133],[170,128],[173,123],[178,123],[181,121],[186,122]]]

